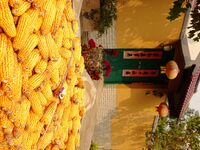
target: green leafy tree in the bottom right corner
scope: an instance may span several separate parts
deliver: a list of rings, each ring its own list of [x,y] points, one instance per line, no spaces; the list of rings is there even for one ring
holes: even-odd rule
[[[189,109],[184,118],[160,118],[155,132],[146,132],[148,150],[200,150],[200,116]]]

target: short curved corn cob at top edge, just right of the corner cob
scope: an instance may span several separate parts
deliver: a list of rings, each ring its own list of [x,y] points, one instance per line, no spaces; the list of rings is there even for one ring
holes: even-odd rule
[[[25,13],[29,8],[31,7],[31,4],[29,2],[23,1],[19,7],[14,7],[12,9],[12,13],[15,16],[21,16],[23,13]]]

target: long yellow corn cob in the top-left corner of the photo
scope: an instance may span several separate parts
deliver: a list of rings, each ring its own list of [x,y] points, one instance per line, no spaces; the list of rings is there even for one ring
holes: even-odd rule
[[[16,28],[7,0],[0,1],[0,27],[10,37],[16,36]]]

